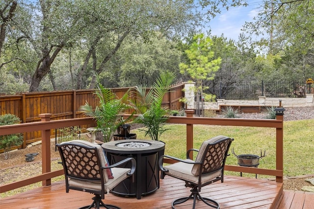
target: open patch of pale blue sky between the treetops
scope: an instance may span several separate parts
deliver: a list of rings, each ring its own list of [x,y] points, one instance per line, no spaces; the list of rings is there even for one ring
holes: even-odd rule
[[[221,9],[221,14],[217,14],[210,23],[211,35],[220,36],[222,33],[224,37],[238,40],[238,36],[242,26],[246,22],[253,21],[253,18],[258,14],[259,4],[261,0],[248,0],[249,5],[247,7],[234,7],[228,11],[225,8]],[[206,32],[208,28],[204,28]]]

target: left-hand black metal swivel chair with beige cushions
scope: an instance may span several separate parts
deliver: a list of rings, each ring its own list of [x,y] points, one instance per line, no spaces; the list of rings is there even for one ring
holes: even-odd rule
[[[80,209],[105,207],[106,209],[120,209],[117,206],[105,205],[105,193],[120,182],[130,177],[136,167],[133,158],[108,165],[103,148],[84,140],[72,140],[56,144],[60,152],[65,174],[66,192],[69,189],[85,191],[95,194],[93,203]],[[131,168],[118,168],[118,165],[131,161]],[[69,207],[70,208],[70,207]]]

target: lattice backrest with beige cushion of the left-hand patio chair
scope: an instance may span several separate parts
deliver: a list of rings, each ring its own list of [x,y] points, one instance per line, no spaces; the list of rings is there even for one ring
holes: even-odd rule
[[[107,161],[101,145],[84,140],[72,140],[57,144],[67,177],[86,181],[108,181],[105,169]]]

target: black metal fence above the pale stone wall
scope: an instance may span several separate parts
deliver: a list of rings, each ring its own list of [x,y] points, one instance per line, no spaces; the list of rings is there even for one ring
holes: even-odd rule
[[[314,85],[313,85],[314,86]],[[311,88],[312,89],[312,88]],[[255,100],[259,96],[266,97],[306,97],[306,93],[310,93],[309,86],[305,82],[237,82],[226,86],[219,84],[210,90],[216,94],[217,98],[222,99],[247,99]]]

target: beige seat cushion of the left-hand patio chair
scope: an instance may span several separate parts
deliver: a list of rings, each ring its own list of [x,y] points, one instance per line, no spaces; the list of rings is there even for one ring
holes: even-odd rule
[[[130,168],[118,168],[118,167],[112,168],[114,179],[109,179],[105,183],[105,191],[108,193],[111,189],[113,189],[113,187],[117,186],[121,181],[128,178],[129,176],[127,175],[127,173],[130,171],[131,171]],[[102,190],[102,185],[100,182],[92,182],[92,181],[85,182],[85,181],[78,181],[78,180],[70,179],[69,185],[76,186],[79,188],[85,188],[85,189],[93,189],[97,191]]]

